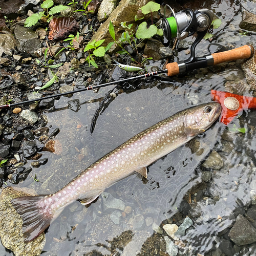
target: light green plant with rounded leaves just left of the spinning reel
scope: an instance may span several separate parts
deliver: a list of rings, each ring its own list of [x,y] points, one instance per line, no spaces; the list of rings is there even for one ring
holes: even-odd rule
[[[157,26],[153,25],[153,12],[159,11],[160,5],[155,2],[148,2],[146,5],[142,6],[140,9],[141,9],[141,12],[145,15],[148,13],[151,13],[151,26],[148,27],[146,22],[142,22],[138,27],[138,30],[136,32],[136,37],[139,39],[145,39],[145,38],[150,38],[156,34],[160,36],[163,35],[163,30],[158,29]],[[138,20],[137,15],[135,16],[135,20]]]

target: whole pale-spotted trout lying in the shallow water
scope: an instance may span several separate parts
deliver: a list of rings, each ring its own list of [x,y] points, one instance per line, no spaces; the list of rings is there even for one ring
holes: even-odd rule
[[[38,237],[73,201],[90,204],[106,188],[134,172],[147,178],[148,165],[205,132],[221,110],[217,102],[183,110],[127,140],[56,193],[13,199],[11,204],[23,219],[24,241]]]

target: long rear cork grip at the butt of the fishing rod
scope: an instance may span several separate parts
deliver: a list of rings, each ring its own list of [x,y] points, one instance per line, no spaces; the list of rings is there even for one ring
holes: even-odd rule
[[[254,48],[252,46],[241,46],[239,48],[218,52],[211,54],[214,57],[214,65],[217,65],[222,62],[237,60],[237,59],[247,59],[250,58],[254,53]]]

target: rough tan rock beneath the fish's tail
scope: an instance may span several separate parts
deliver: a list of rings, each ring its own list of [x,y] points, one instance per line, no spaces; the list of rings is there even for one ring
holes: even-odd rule
[[[31,196],[31,194],[7,187],[0,196],[1,240],[3,245],[13,251],[15,256],[39,256],[46,243],[45,234],[42,233],[32,242],[25,243],[22,231],[23,221],[10,203],[12,199],[22,196]]]

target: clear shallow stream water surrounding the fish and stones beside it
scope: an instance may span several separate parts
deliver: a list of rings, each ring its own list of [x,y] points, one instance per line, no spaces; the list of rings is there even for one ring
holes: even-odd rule
[[[244,5],[255,8],[253,2]],[[222,19],[223,23],[217,30],[220,33],[212,42],[235,47],[255,42],[255,33],[239,34],[241,11],[238,11],[239,6],[234,3],[206,1],[204,5],[195,2],[191,6],[186,4],[186,7],[209,8]],[[236,11],[238,15],[233,16]],[[222,30],[225,22],[232,17],[232,22]],[[190,40],[192,38],[187,38],[187,41]],[[200,42],[197,47],[200,55],[208,53],[208,44],[205,40]],[[184,52],[179,53],[179,59],[187,58]],[[150,66],[161,68],[162,64],[152,61]],[[245,80],[236,63],[220,69],[208,69],[203,76],[198,74],[195,72],[178,78],[186,83],[184,86],[154,79],[135,82],[136,89],[135,84],[131,84],[98,117],[93,134],[90,134],[91,120],[99,100],[109,88],[101,89],[98,93],[89,91],[74,94],[72,98],[61,97],[55,100],[55,110],[46,111],[45,114],[49,133],[56,128],[60,129],[56,139],[62,146],[62,152],[59,155],[42,152],[42,158],[47,157],[48,163],[37,169],[33,168],[31,172],[33,177],[36,175],[39,183],[30,177],[17,186],[34,188],[38,194],[54,193],[81,170],[147,127],[192,105],[210,102],[211,89],[225,91],[230,89],[225,87],[227,80]],[[252,95],[245,88],[237,91],[240,94]],[[68,106],[78,102],[77,100],[80,109],[74,112]],[[166,255],[162,245],[163,234],[155,234],[152,225],[144,225],[141,230],[134,230],[129,224],[130,218],[138,214],[142,214],[144,219],[153,218],[157,225],[173,221],[179,223],[179,220],[182,222],[183,217],[188,214],[194,224],[181,238],[186,243],[179,247],[179,253],[208,255],[207,252],[220,243],[221,233],[225,234],[226,228],[233,225],[241,206],[246,206],[256,193],[254,112],[243,113],[228,126],[232,127],[233,124],[246,127],[247,132],[231,133],[228,127],[217,122],[205,134],[149,166],[147,179],[134,174],[106,189],[115,198],[123,200],[125,206],[132,207],[131,214],[121,217],[119,225],[110,219],[112,212],[102,210],[101,196],[88,208],[78,202],[65,208],[46,233],[47,243],[42,255]],[[225,134],[231,137],[229,141],[223,139]],[[195,153],[194,144],[197,141],[202,148],[201,155]],[[227,143],[231,146],[229,154],[223,150]],[[205,170],[201,164],[212,150],[219,152],[224,166],[220,170],[212,170],[212,180],[203,188],[206,190],[204,195],[207,194],[208,197],[205,196],[197,203],[192,202],[192,209],[188,212],[182,205],[189,195],[195,196],[192,191],[200,191],[198,187],[203,184],[202,170]],[[28,161],[27,166],[29,164]],[[195,212],[200,212],[200,217]],[[153,252],[154,248],[158,254]],[[239,255],[255,255],[253,253],[252,250],[251,254],[241,252]],[[12,255],[2,245],[0,254]]]

